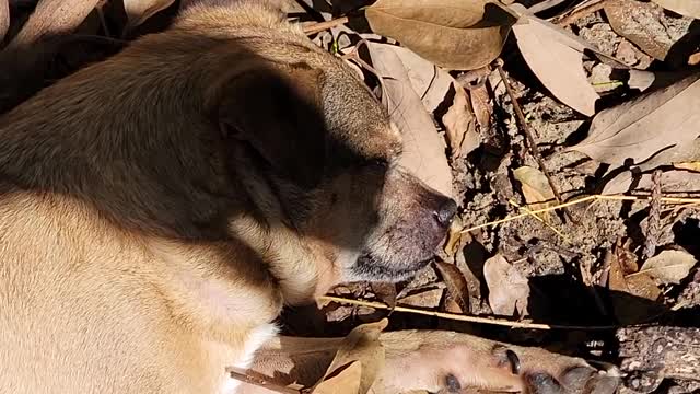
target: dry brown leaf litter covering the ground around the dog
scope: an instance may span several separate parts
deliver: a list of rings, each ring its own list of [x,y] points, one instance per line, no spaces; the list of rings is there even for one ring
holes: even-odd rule
[[[299,2],[306,7],[301,12],[324,3]],[[0,33],[9,25],[4,45],[32,43],[47,33],[105,35],[107,26],[88,21],[98,2],[74,3],[66,10],[62,2],[42,0],[32,16],[22,16],[28,22],[18,26],[15,5],[9,4],[7,23],[7,2],[0,1]],[[138,32],[151,20],[166,20],[161,11],[173,3],[127,0],[126,21],[118,22],[108,10],[105,16],[117,23],[109,27],[118,32]],[[384,363],[377,338],[388,322],[393,328],[445,327],[433,317],[394,313],[396,305],[562,326],[697,325],[681,312],[700,306],[698,204],[665,202],[658,213],[657,252],[644,259],[642,250],[652,171],[662,172],[665,198],[700,197],[700,131],[695,127],[700,124],[700,85],[689,66],[700,53],[692,31],[692,19],[700,18],[698,0],[608,0],[597,8],[584,2],[573,9],[556,1],[526,9],[514,1],[368,0],[343,5],[352,10],[345,15],[337,13],[342,9],[337,2],[326,3],[334,13],[318,11],[331,31],[322,28],[311,38],[365,79],[404,135],[407,154],[401,164],[459,201],[463,225],[492,223],[556,204],[503,80],[490,67],[499,57],[563,200],[600,190],[639,199],[575,205],[570,207],[572,218],[550,213],[547,223],[524,215],[468,234],[456,229],[436,264],[410,282],[348,283],[334,291],[378,300],[388,305],[386,311],[327,304],[317,311],[323,321],[317,325],[308,324],[306,312],[291,311],[284,318],[290,332],[300,326],[296,333],[306,336],[347,335],[323,379],[305,390],[370,392]],[[627,5],[641,11],[627,12]],[[366,26],[353,30],[355,24],[347,23],[353,19],[363,19]],[[302,23],[305,28],[315,24]],[[672,54],[682,61],[672,61]],[[450,329],[478,328],[455,327]],[[497,327],[479,334],[511,343],[532,344],[535,338],[584,358],[616,361],[616,344],[607,334],[585,331],[563,338]],[[587,349],[591,343],[602,348]],[[675,392],[688,386],[679,380],[668,385]]]

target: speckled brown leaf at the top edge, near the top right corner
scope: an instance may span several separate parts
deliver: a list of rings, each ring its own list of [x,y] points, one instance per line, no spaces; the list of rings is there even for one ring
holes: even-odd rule
[[[615,0],[605,3],[605,14],[615,33],[634,43],[645,54],[664,60],[674,44],[649,3]]]

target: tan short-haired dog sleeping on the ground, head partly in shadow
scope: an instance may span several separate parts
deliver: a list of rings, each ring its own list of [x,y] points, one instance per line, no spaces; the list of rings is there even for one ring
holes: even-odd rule
[[[0,118],[0,392],[233,393],[226,368],[284,303],[405,279],[444,237],[455,204],[397,167],[400,135],[354,73],[268,8],[225,3]],[[392,390],[518,386],[481,345],[392,338]],[[420,349],[435,366],[404,382]]]

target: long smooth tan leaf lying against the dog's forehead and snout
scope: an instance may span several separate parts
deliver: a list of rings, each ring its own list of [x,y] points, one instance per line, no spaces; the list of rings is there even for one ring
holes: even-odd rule
[[[392,45],[369,43],[368,48],[372,65],[383,79],[382,102],[404,136],[399,164],[432,188],[452,196],[452,172],[445,157],[445,143],[413,91],[406,66]]]

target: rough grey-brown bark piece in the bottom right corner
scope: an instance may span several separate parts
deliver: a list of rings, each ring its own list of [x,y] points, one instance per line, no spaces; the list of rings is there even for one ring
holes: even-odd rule
[[[629,327],[617,338],[623,372],[700,381],[700,328]]]

